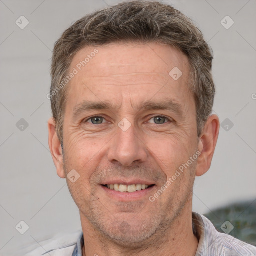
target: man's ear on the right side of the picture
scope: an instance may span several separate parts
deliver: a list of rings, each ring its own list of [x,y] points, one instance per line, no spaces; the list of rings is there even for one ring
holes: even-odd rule
[[[219,119],[217,115],[212,114],[208,117],[199,138],[198,150],[201,154],[197,158],[196,176],[203,175],[210,168],[218,133]]]

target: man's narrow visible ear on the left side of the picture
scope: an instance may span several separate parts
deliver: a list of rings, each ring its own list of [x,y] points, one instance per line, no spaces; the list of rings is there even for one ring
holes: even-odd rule
[[[65,178],[65,172],[63,168],[63,155],[61,149],[61,143],[55,130],[56,124],[53,117],[48,120],[48,131],[49,131],[49,148],[53,162],[57,169],[57,174],[61,178]]]

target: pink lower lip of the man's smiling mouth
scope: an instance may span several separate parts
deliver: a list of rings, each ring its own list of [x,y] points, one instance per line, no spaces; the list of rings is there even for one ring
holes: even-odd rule
[[[115,191],[112,189],[109,189],[105,186],[100,185],[103,190],[107,193],[108,196],[110,196],[114,200],[119,200],[119,201],[133,201],[133,200],[139,200],[148,195],[149,193],[152,193],[152,189],[154,189],[154,186],[150,186],[146,189],[141,189],[139,191],[135,192],[120,192],[120,191]]]

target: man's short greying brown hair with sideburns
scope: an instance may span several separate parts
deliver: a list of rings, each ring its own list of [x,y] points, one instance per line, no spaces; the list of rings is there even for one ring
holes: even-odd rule
[[[60,141],[63,139],[66,86],[62,89],[59,84],[66,77],[75,53],[85,46],[132,41],[171,45],[188,57],[189,88],[195,99],[197,134],[200,136],[211,114],[215,94],[211,49],[192,21],[172,6],[131,1],[84,16],[56,41],[51,65],[50,99]]]

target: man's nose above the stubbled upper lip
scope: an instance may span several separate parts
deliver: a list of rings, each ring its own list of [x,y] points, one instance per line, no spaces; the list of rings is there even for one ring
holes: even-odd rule
[[[133,125],[127,130],[117,127],[107,157],[111,163],[118,162],[124,166],[145,162],[147,158],[145,141],[135,134]]]

